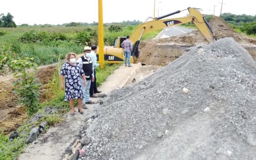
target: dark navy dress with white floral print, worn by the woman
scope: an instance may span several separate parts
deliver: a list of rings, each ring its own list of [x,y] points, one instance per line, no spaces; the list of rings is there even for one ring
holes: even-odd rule
[[[74,66],[68,62],[63,64],[60,75],[65,76],[65,101],[78,98],[83,99],[80,76],[84,74],[79,63],[76,63]]]

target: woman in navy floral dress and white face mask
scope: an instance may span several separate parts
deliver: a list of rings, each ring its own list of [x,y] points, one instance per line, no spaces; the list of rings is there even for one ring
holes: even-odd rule
[[[76,54],[68,53],[66,55],[67,63],[64,63],[60,71],[61,89],[64,90],[64,76],[65,76],[65,101],[69,101],[71,107],[71,116],[75,116],[75,99],[78,102],[78,112],[84,114],[82,110],[83,92],[81,89],[81,76],[86,85],[85,73],[82,66],[76,63]]]

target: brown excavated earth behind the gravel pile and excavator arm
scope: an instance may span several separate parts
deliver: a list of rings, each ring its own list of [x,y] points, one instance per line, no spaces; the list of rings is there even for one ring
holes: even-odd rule
[[[236,33],[231,26],[221,18],[216,17],[211,19],[210,25],[217,39],[233,37],[236,39],[236,42],[243,46],[255,47],[256,39],[249,38],[245,34]],[[186,50],[185,48],[195,46],[196,44],[207,43],[206,39],[198,30],[181,36],[141,42],[138,62],[151,65],[166,65],[180,57]],[[253,50],[249,52],[254,56],[255,53]]]

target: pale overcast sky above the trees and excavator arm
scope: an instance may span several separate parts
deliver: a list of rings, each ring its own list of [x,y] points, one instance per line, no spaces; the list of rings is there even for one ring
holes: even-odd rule
[[[202,14],[220,15],[221,0],[156,0],[155,16],[166,15],[187,7],[201,8]],[[255,0],[223,0],[222,13],[256,14]],[[70,22],[98,22],[98,0],[1,0],[0,14],[10,12],[17,25],[63,24]],[[153,17],[154,0],[103,0],[103,21],[145,21]],[[183,17],[183,11],[172,17]],[[171,18],[171,17],[170,17]]]

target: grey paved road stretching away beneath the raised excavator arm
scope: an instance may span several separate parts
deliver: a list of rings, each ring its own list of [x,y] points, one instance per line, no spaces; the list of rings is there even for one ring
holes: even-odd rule
[[[180,26],[171,26],[171,27],[165,28],[162,32],[160,32],[157,38],[162,39],[162,38],[177,36],[177,35],[192,32],[193,30],[195,29],[189,29],[189,28],[180,27]]]

